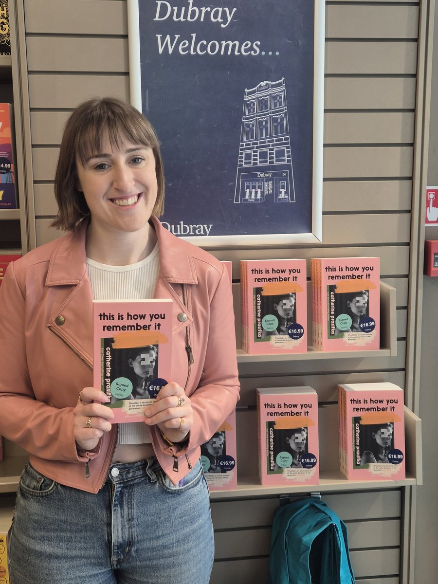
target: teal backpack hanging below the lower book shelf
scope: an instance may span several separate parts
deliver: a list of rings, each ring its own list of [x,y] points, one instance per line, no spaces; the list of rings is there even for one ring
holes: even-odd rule
[[[274,515],[269,584],[354,584],[347,529],[315,497],[280,506]]]

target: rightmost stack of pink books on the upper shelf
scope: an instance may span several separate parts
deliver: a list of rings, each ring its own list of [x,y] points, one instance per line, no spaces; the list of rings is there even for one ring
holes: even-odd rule
[[[311,281],[314,349],[380,349],[379,258],[312,258]]]

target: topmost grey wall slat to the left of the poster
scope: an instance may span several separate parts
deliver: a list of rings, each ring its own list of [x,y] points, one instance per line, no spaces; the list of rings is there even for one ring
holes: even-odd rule
[[[126,0],[25,0],[27,34],[127,34]]]

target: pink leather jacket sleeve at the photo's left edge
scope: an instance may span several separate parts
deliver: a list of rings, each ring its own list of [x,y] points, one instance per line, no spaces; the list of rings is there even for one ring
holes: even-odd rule
[[[73,408],[55,408],[34,395],[27,351],[38,352],[39,348],[27,346],[26,331],[30,328],[29,307],[11,263],[0,287],[0,434],[40,458],[84,462],[96,453],[78,456]],[[47,383],[50,384],[50,371]]]

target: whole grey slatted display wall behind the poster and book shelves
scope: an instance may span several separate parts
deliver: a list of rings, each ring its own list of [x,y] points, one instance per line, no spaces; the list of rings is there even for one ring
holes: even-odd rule
[[[126,1],[24,4],[36,232],[42,244],[60,235],[49,225],[56,212],[57,147],[69,111],[93,95],[129,98]],[[383,281],[397,290],[397,356],[239,364],[240,472],[257,473],[256,387],[312,385],[332,408],[338,383],[392,381],[404,387],[418,23],[418,2],[326,4],[322,244],[213,250],[219,259],[232,260],[235,287],[240,259],[377,255]],[[336,450],[330,456],[332,462]],[[401,491],[333,493],[323,500],[347,523],[359,581],[398,583]],[[267,583],[269,530],[278,504],[277,498],[212,500],[217,543],[212,584]]]

